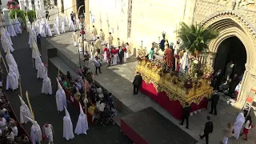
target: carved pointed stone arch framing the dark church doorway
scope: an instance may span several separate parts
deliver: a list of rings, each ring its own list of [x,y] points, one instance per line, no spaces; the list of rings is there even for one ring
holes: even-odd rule
[[[242,90],[238,95],[238,102],[243,103],[246,100],[248,91],[256,86],[256,32],[254,27],[250,26],[242,16],[234,11],[225,11],[212,15],[206,21],[202,22],[202,26],[211,26],[214,30],[218,30],[219,36],[209,44],[210,56],[214,60],[214,54],[218,50],[218,46],[230,37],[237,37],[246,47],[246,71],[242,79]],[[213,65],[213,62],[210,63]]]

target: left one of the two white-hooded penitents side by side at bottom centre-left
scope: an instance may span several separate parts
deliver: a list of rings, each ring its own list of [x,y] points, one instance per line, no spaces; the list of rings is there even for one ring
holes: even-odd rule
[[[66,140],[70,140],[74,138],[74,133],[73,133],[73,124],[71,122],[70,114],[65,108],[65,113],[66,116],[63,118],[63,138],[66,138]]]

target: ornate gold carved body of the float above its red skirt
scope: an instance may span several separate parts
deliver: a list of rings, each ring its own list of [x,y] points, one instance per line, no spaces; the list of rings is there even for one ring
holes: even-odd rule
[[[166,92],[171,101],[179,101],[182,106],[185,102],[199,104],[203,98],[210,98],[213,89],[210,86],[210,79],[201,78],[197,82],[178,78],[176,75],[163,74],[162,66],[155,65],[146,59],[138,60],[135,72],[142,74],[146,84],[152,83],[158,93]],[[210,70],[204,74],[209,74]]]

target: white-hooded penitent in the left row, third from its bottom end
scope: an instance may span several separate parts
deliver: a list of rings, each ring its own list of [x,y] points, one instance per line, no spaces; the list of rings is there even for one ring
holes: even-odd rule
[[[18,77],[12,69],[9,68],[9,73],[6,78],[6,90],[16,90],[18,89]]]

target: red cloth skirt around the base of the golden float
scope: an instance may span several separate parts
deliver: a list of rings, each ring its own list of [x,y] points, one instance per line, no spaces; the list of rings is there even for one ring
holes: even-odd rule
[[[174,118],[182,119],[182,105],[180,104],[180,102],[171,101],[165,92],[158,93],[157,90],[155,90],[154,85],[152,83],[146,84],[144,80],[142,82],[141,91],[142,93],[152,98],[154,102],[158,102],[158,104],[165,108],[170,114],[172,114]],[[190,109],[191,112],[193,112],[195,110],[207,108],[207,106],[208,100],[207,98],[203,98],[198,105],[192,103],[190,105]]]

